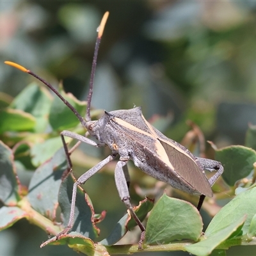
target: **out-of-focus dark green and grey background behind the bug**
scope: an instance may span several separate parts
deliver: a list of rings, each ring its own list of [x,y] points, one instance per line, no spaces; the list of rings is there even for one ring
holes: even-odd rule
[[[54,86],[62,80],[67,92],[86,99],[96,28],[106,11],[93,107],[142,106],[149,120],[167,116],[156,125],[173,140],[183,138],[190,119],[218,147],[243,145],[248,123],[256,124],[253,1],[0,1],[0,92],[14,97],[35,80],[4,65],[10,60]],[[107,209],[109,227],[115,225],[125,207],[113,177],[93,177],[86,191],[96,212]],[[40,249],[46,239],[19,221],[0,233],[0,255],[76,255],[65,246]],[[233,248],[230,255],[241,254]]]

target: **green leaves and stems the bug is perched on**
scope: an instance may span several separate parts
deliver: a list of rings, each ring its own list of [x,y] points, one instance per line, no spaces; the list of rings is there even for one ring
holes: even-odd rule
[[[106,180],[102,185],[97,184],[97,188],[94,188],[98,195],[97,200],[89,197],[90,191],[87,194],[81,187],[76,189],[74,225],[71,232],[61,234],[56,239],[69,223],[73,185],[76,180],[72,172],[67,176],[69,168],[61,145],[60,129],[68,128],[80,134],[84,134],[84,129],[78,120],[72,122],[69,118],[61,118],[58,124],[56,113],[59,116],[68,116],[72,111],[63,108],[62,106],[65,105],[60,99],[48,97],[48,92],[42,88],[44,87],[29,84],[13,99],[10,106],[1,109],[0,112],[0,201],[3,204],[0,208],[0,230],[6,230],[25,218],[54,236],[41,244],[43,248],[48,244],[67,244],[74,251],[90,256],[138,252],[137,236],[133,230],[136,221],[129,211],[118,221],[113,218],[115,214],[119,215],[121,212],[116,205],[112,205],[112,212],[108,214],[106,209],[99,213],[95,212],[93,202],[102,202],[102,191],[109,192],[109,189],[106,189]],[[72,106],[79,109],[81,115],[84,114],[85,102],[77,100],[70,93],[66,94],[62,88],[60,93],[70,100]],[[95,113],[97,111],[92,112],[93,118]],[[52,115],[55,118],[51,118]],[[13,125],[15,124],[13,120],[19,120],[19,125]],[[155,118],[155,123],[157,122],[163,122],[163,118]],[[200,156],[203,156],[204,134],[195,123],[189,122],[189,125],[192,129],[184,137],[183,143],[194,154],[199,150]],[[44,131],[42,131],[43,127]],[[255,134],[250,134],[250,140],[256,140]],[[71,144],[70,146],[74,145],[71,138],[66,142]],[[144,221],[148,212],[152,210],[148,216],[143,250],[147,252],[185,250],[198,256],[207,256],[211,253],[219,253],[219,250],[225,255],[225,250],[231,246],[256,244],[256,207],[253,204],[256,196],[254,184],[256,151],[243,146],[216,149],[213,143],[211,145],[216,150],[216,159],[221,161],[225,168],[222,177],[226,184],[219,179],[213,186],[214,197],[207,198],[204,202],[204,211],[213,217],[205,230],[205,235],[202,233],[204,223],[198,209],[189,202],[168,197],[176,196],[196,204],[198,200],[196,196],[189,196],[177,189],[168,189],[162,195],[167,186],[164,182],[158,182],[161,185],[157,186],[156,180],[151,178],[154,182],[148,182],[148,176],[145,174],[138,179],[136,170],[129,166],[132,180],[136,180],[134,186],[136,196],[140,199],[138,206],[134,207],[136,216]],[[76,163],[75,175],[78,175],[76,172],[78,166],[83,167],[83,171],[90,169],[88,172],[92,172],[91,168],[95,163],[100,163],[100,157],[91,158],[90,154],[82,152],[81,148],[76,147],[75,151],[71,151],[72,161]],[[102,169],[106,173],[113,173],[116,161],[106,163],[108,164],[101,162],[104,166]],[[22,182],[25,173],[31,173],[28,184]],[[95,175],[97,183],[99,183],[98,177]],[[88,183],[84,184],[86,189]],[[154,200],[150,198],[143,199],[145,195],[154,196],[156,199],[162,196],[154,204]],[[132,190],[132,198],[134,197]],[[220,199],[230,202],[221,208],[217,201]],[[113,202],[113,198],[109,198],[108,202]],[[108,204],[104,205],[106,207]],[[226,220],[227,216],[228,220]],[[107,220],[111,218],[113,223],[116,222],[115,227],[109,225],[105,218]],[[102,230],[108,232],[107,236],[104,232],[99,236],[99,223],[102,223]],[[15,227],[17,225],[13,226]],[[130,236],[126,236],[128,231]],[[104,239],[100,240],[102,237]],[[123,245],[115,245],[116,243]],[[44,249],[42,250],[45,252]],[[57,252],[54,250],[54,253]]]

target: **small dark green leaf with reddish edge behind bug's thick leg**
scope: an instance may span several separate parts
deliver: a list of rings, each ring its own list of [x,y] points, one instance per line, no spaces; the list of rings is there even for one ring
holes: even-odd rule
[[[151,211],[152,207],[154,205],[154,202],[148,198],[145,198],[145,200],[141,201],[140,204],[137,207],[134,207],[134,212],[140,219],[140,221],[143,221],[148,212]],[[100,241],[100,244],[103,244],[105,246],[111,246],[112,244],[115,244],[118,242],[124,235],[127,233],[127,231],[131,230],[131,228],[134,228],[137,225],[136,221],[131,217],[130,214],[125,214],[125,216],[118,221],[115,228],[109,234],[109,236],[106,239],[103,239]]]

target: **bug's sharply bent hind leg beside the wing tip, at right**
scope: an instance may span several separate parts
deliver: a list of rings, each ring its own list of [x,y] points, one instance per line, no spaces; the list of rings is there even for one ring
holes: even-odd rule
[[[201,164],[201,166],[204,168],[204,170],[207,170],[209,172],[216,172],[210,179],[209,179],[209,183],[212,186],[216,180],[218,179],[218,177],[220,177],[220,175],[223,173],[223,166],[221,165],[220,162],[212,160],[212,159],[207,159],[207,158],[202,158],[202,157],[197,157],[199,163]],[[198,211],[200,211],[202,204],[204,202],[204,198],[205,195],[201,195],[199,198],[199,202],[197,205],[197,209]]]

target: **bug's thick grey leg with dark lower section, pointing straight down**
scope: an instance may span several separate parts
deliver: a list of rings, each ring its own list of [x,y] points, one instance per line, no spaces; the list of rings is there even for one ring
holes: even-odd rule
[[[125,178],[125,173],[126,173],[125,170],[127,170],[127,173],[128,173],[127,161],[128,160],[121,160],[120,159],[120,161],[118,161],[118,163],[116,164],[115,182],[116,182],[116,188],[118,190],[118,193],[119,193],[119,196],[120,196],[122,202],[124,202],[127,209],[129,209],[132,218],[134,218],[134,220],[136,221],[136,223],[140,227],[141,236],[140,236],[140,241],[139,241],[139,247],[138,248],[141,250],[142,249],[142,243],[145,239],[145,227],[141,223],[140,219],[138,218],[138,216],[134,212],[134,210],[132,208],[132,205],[131,205],[129,189],[128,189],[128,186],[127,186],[128,182],[127,182],[127,179]]]

